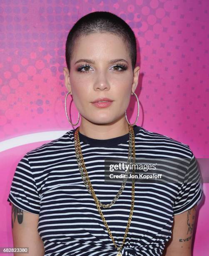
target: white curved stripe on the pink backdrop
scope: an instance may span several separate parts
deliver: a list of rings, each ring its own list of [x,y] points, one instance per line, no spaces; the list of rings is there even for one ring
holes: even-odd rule
[[[40,133],[30,133],[30,134],[25,134],[22,136],[10,138],[5,141],[0,141],[0,152],[10,148],[15,148],[18,146],[29,144],[29,143],[34,143],[39,141],[52,141],[57,138],[60,138],[62,135],[67,133],[67,131],[46,131],[46,132],[40,132]]]

